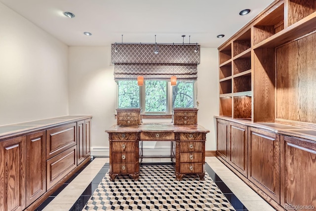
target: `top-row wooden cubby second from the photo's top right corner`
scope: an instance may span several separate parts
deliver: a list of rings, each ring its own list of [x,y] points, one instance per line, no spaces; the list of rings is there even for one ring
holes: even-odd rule
[[[284,29],[284,4],[282,3],[254,25],[254,45],[262,42]]]

